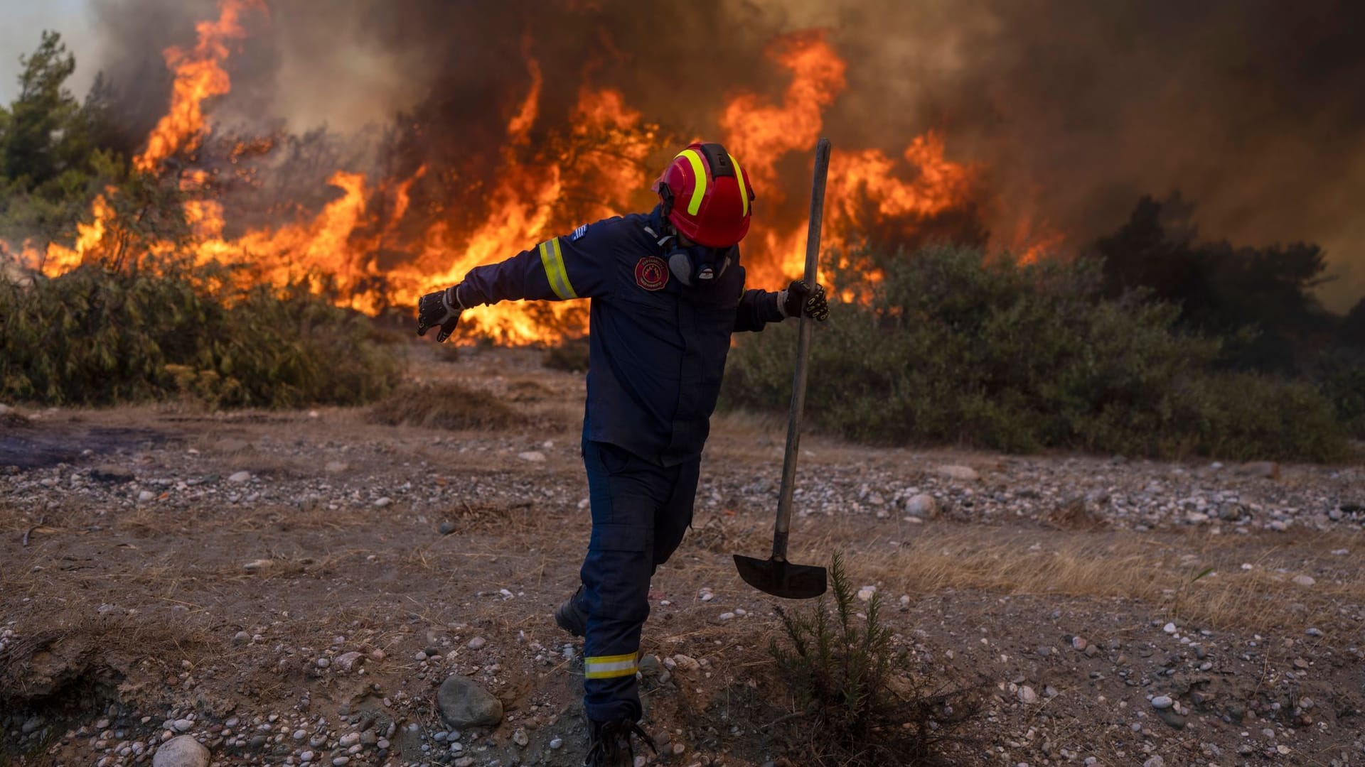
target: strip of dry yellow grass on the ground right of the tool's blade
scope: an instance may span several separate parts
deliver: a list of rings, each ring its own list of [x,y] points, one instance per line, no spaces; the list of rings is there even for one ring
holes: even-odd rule
[[[1346,562],[1331,573],[1305,569],[1294,546],[1249,550],[1204,538],[1192,538],[1186,546],[1138,534],[951,528],[928,528],[908,538],[850,555],[850,572],[865,579],[863,583],[891,581],[921,595],[981,590],[1136,599],[1170,617],[1216,629],[1269,631],[1305,620],[1325,626],[1339,620],[1339,606],[1365,605],[1365,575]],[[1353,538],[1361,543],[1360,536]],[[1302,543],[1319,555],[1324,543],[1331,546],[1324,540]],[[838,547],[837,536],[829,536],[823,546]],[[1298,575],[1312,575],[1317,583],[1298,585],[1293,581]]]

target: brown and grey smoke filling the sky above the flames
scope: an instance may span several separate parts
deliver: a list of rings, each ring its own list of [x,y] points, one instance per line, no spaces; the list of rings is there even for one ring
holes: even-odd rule
[[[423,123],[427,150],[494,157],[545,76],[538,130],[584,83],[616,87],[677,135],[718,135],[728,97],[779,101],[764,56],[827,30],[848,86],[835,151],[939,131],[991,194],[988,225],[1029,216],[1077,248],[1143,194],[1179,190],[1211,239],[1328,251],[1338,308],[1365,292],[1365,4],[1331,0],[270,0],[229,64],[222,120],[302,131]],[[96,0],[101,68],[136,128],[165,104],[161,49],[207,0]],[[534,136],[532,136],[534,138]]]

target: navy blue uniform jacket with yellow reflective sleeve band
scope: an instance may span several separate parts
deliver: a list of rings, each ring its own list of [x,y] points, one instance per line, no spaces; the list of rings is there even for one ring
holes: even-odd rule
[[[659,465],[695,460],[710,430],[730,333],[782,319],[778,293],[744,289],[738,248],[713,285],[669,273],[658,209],[579,227],[465,274],[465,307],[591,299],[587,438]]]

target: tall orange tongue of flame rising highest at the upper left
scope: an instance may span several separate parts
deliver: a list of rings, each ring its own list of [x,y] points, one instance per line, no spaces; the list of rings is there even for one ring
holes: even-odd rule
[[[195,25],[199,40],[192,50],[165,49],[167,67],[175,72],[171,109],[147,136],[147,149],[134,158],[138,171],[152,173],[172,154],[198,147],[205,134],[203,102],[232,90],[222,61],[228,42],[246,35],[240,15],[248,5],[263,10],[259,0],[222,0],[217,20]]]

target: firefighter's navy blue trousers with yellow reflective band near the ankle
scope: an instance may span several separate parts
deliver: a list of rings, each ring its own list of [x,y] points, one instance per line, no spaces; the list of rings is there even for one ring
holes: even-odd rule
[[[588,616],[583,707],[590,719],[635,722],[643,714],[635,673],[650,577],[692,523],[700,463],[661,467],[584,434],[592,536],[579,606]]]

